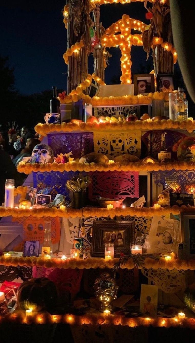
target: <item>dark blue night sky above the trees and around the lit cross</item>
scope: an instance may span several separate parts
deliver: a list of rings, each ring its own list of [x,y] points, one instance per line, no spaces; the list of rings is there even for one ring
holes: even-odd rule
[[[14,67],[15,86],[22,94],[33,94],[50,89],[67,89],[67,66],[62,55],[67,49],[67,30],[62,9],[66,0],[17,0],[0,2],[0,55],[8,56]],[[107,4],[101,6],[101,21],[107,28],[121,19],[123,14],[149,23],[145,19],[144,4]],[[110,49],[112,58],[106,69],[106,83],[120,73],[119,49]],[[146,62],[142,47],[133,47],[132,72],[139,73],[140,64]],[[91,59],[92,61],[92,59]],[[92,72],[89,62],[89,72]]]

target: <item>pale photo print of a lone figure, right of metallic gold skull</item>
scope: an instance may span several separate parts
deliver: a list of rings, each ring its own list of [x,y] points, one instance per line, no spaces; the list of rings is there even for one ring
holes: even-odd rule
[[[146,317],[157,316],[158,288],[152,285],[141,285],[139,310]]]

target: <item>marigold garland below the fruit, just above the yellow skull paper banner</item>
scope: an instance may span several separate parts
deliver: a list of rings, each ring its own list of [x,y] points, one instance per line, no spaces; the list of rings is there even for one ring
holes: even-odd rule
[[[118,121],[118,122],[106,122],[106,123],[81,123],[79,125],[75,123],[61,123],[61,124],[42,124],[39,123],[35,126],[35,131],[43,136],[46,136],[51,132],[72,132],[72,131],[111,131],[122,132],[127,130],[171,130],[180,129],[192,132],[195,130],[195,120],[183,120],[176,121],[172,119],[167,120],[136,120],[136,121]]]

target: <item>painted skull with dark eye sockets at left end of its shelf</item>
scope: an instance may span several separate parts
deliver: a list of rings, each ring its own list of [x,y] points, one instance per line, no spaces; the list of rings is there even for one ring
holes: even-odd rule
[[[32,163],[52,163],[54,161],[54,153],[49,145],[37,144],[32,152]]]

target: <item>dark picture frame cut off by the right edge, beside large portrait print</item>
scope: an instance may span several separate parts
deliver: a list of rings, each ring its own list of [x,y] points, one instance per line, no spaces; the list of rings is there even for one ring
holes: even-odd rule
[[[195,258],[195,214],[181,213],[181,236],[187,258]],[[179,247],[180,250],[181,247]]]

